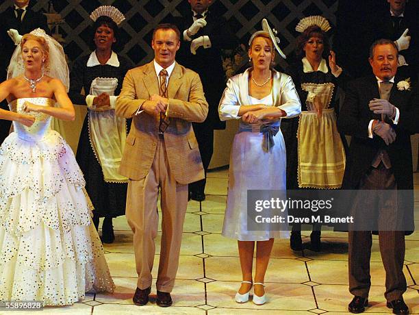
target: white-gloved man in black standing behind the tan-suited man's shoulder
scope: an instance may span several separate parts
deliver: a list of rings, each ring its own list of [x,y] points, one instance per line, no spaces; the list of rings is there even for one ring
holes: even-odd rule
[[[203,123],[192,124],[206,177],[213,153],[214,129],[225,129],[225,122],[218,118],[218,103],[226,81],[221,49],[235,49],[238,47],[238,40],[230,31],[225,18],[209,10],[212,0],[188,2],[191,12],[176,22],[181,31],[181,47],[177,60],[199,74],[205,99],[210,105],[207,119]],[[205,179],[190,184],[190,199],[203,201],[204,189]]]

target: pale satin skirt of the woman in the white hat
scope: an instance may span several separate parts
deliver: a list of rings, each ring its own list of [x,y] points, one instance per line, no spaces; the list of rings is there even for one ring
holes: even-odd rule
[[[243,241],[261,241],[288,237],[288,225],[281,229],[247,229],[247,190],[283,190],[286,185],[286,152],[281,130],[274,136],[275,145],[262,149],[263,134],[241,131],[236,134],[230,155],[229,188],[223,223],[223,236]],[[268,198],[268,196],[266,196]],[[286,217],[286,211],[283,212]]]

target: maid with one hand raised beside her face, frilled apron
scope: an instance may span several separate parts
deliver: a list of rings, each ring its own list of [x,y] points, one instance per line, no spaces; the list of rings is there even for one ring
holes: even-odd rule
[[[338,133],[335,103],[337,88],[348,77],[335,62],[327,31],[329,22],[322,16],[303,18],[296,26],[296,55],[299,61],[286,69],[301,99],[301,115],[283,121],[281,130],[287,148],[287,190],[336,189],[342,186],[345,169],[344,138]],[[346,144],[345,144],[346,145]],[[311,211],[295,210],[295,216],[310,217]],[[289,210],[290,214],[294,214]],[[320,251],[320,225],[310,236],[311,249]],[[301,225],[294,224],[291,248],[301,250]]]

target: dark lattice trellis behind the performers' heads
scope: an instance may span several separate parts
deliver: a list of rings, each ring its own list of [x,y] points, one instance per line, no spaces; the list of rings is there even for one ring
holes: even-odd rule
[[[51,3],[60,14],[58,19],[62,18],[62,23],[53,31],[59,31],[62,35],[69,62],[89,53],[89,14],[99,5],[114,5],[125,14],[126,21],[120,27],[121,36],[127,38],[127,42],[121,53],[134,64],[143,64],[153,58],[150,42],[155,25],[172,15],[188,14],[190,10],[186,0],[31,0],[35,11],[45,13],[51,10]],[[0,12],[9,5],[12,5],[12,1],[3,2]],[[301,18],[322,14],[335,25],[337,9],[338,0],[215,0],[211,7],[212,11],[225,16],[240,42],[244,44],[254,31],[261,28],[262,18],[268,18],[270,25],[277,29],[281,47],[287,55],[294,49],[294,40],[298,35],[294,27]],[[54,18],[57,15],[49,16],[49,22]],[[287,61],[280,59],[279,65],[285,67]]]

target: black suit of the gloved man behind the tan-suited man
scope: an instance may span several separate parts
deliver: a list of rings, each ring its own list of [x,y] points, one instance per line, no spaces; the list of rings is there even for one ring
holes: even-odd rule
[[[207,119],[203,123],[193,123],[196,140],[199,144],[202,162],[207,172],[211,162],[214,142],[214,129],[225,129],[225,122],[220,121],[218,117],[218,103],[225,88],[225,72],[223,70],[223,60],[221,59],[221,49],[234,49],[238,46],[236,36],[229,30],[229,27],[223,16],[212,15],[210,11],[205,16],[207,25],[201,28],[192,40],[200,36],[208,36],[211,40],[211,47],[204,49],[199,47],[196,55],[190,52],[190,43],[182,38],[181,47],[177,53],[179,63],[190,68],[201,77],[205,99],[210,106]],[[188,29],[194,23],[192,12],[181,21],[177,21],[177,26],[181,31]],[[205,179],[198,183],[192,183],[190,189],[202,192],[205,188]]]

